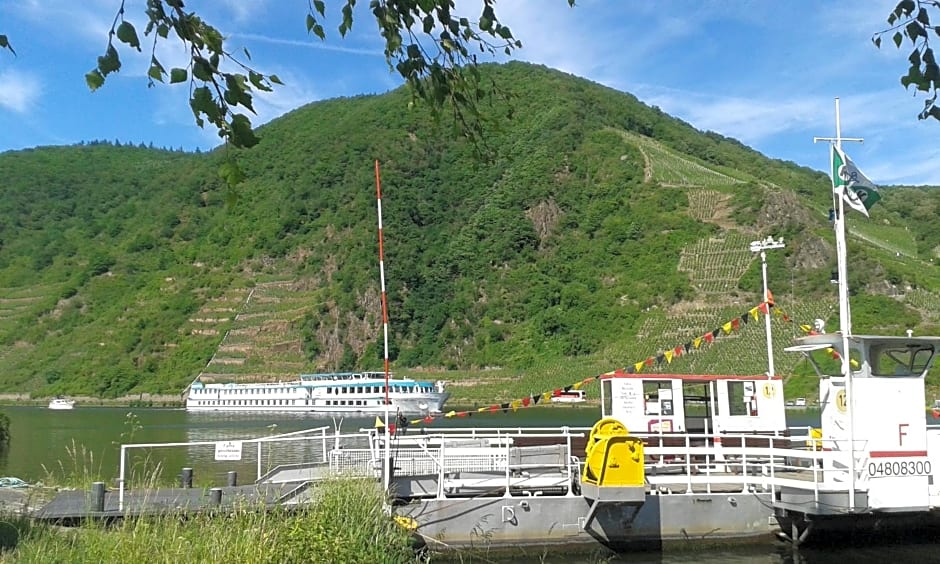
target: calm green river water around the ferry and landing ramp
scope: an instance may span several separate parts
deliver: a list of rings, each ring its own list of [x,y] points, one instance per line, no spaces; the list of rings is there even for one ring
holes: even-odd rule
[[[166,443],[194,441],[243,440],[288,433],[319,426],[340,424],[343,431],[357,431],[374,425],[375,417],[313,417],[309,414],[225,414],[189,413],[181,409],[128,409],[81,407],[71,411],[51,411],[42,407],[10,406],[0,408],[11,422],[12,440],[0,450],[0,476],[16,476],[28,482],[47,479],[53,474],[63,476],[89,474],[113,483],[118,476],[118,459],[122,443]],[[447,427],[590,427],[597,420],[597,410],[572,406],[536,407],[506,414],[477,414],[471,418],[454,418],[427,425],[429,431]],[[793,411],[788,414],[791,426],[818,425],[819,413]],[[410,432],[415,432],[412,429]],[[300,461],[310,451],[322,449],[322,441],[311,440],[276,453],[264,453],[262,470],[274,462]],[[194,468],[195,482],[200,485],[223,485],[226,473],[237,470],[239,482],[253,481],[257,472],[254,445],[246,445],[241,462],[215,462],[213,445],[135,451],[130,466],[146,465],[148,469],[162,466],[164,480],[172,480],[184,466]],[[265,447],[267,448],[267,447]],[[149,458],[143,456],[149,453]],[[274,460],[276,459],[276,460]],[[129,468],[130,469],[130,468]],[[480,560],[489,561],[489,560]],[[500,560],[502,561],[502,560]],[[531,557],[514,557],[512,562],[630,562],[636,564],[685,563],[793,563],[793,564],[865,564],[883,562],[940,562],[940,539],[905,539],[903,544],[866,546],[814,546],[791,550],[786,543],[768,540],[756,544],[714,548],[705,551],[624,554],[605,560],[598,556],[560,556],[551,552]]]

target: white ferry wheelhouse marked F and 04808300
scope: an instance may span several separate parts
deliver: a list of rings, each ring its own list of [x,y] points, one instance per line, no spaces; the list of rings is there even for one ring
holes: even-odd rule
[[[841,334],[787,349],[806,355],[820,377],[825,482],[867,490],[869,510],[940,506],[940,429],[927,427],[924,390],[940,338],[852,335],[848,344],[851,382],[841,374]]]

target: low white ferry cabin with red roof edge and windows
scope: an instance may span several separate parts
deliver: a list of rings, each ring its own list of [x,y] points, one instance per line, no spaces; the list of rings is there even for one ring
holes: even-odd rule
[[[601,411],[632,433],[785,434],[783,381],[775,376],[601,376]]]

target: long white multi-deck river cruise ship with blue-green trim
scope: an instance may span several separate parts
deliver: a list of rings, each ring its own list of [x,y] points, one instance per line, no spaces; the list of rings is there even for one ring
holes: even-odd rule
[[[188,411],[301,411],[311,413],[439,413],[450,393],[444,382],[387,380],[384,372],[301,374],[298,380],[266,383],[190,384]]]

